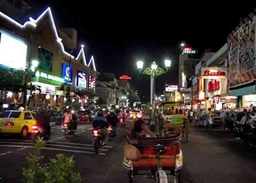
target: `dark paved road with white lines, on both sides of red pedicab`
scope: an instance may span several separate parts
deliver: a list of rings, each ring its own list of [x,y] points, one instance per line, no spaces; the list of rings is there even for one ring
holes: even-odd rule
[[[43,161],[57,153],[74,156],[75,171],[80,172],[82,183],[125,183],[127,170],[122,167],[122,146],[125,130],[106,148],[95,155],[91,146],[91,125],[79,124],[75,137],[66,139],[60,126],[52,127],[50,141],[42,150]],[[190,141],[183,143],[183,183],[255,183],[256,153],[231,135],[206,132],[191,125]],[[11,182],[20,182],[21,168],[27,165],[25,156],[31,152],[30,137],[21,139],[11,135],[0,138],[0,175],[13,175]],[[172,177],[169,177],[170,182]],[[137,175],[135,183],[153,183]]]

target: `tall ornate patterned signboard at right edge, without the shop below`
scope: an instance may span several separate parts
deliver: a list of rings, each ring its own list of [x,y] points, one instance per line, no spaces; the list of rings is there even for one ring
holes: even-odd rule
[[[228,87],[253,81],[256,77],[254,55],[254,16],[253,10],[239,25],[228,34]]]

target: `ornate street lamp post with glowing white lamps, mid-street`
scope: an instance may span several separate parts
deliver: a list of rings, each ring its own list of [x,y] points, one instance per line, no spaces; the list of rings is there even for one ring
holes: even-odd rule
[[[152,105],[155,98],[155,78],[159,75],[166,73],[169,70],[171,66],[171,61],[168,59],[164,61],[166,71],[164,71],[161,67],[158,67],[158,65],[156,65],[156,62],[153,62],[151,67],[147,67],[143,72],[142,69],[144,62],[138,61],[136,64],[140,73],[150,75],[150,103]]]

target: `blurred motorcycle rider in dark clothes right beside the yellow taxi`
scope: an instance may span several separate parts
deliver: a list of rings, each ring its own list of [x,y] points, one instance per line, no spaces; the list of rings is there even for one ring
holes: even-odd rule
[[[36,123],[41,126],[43,129],[45,129],[45,139],[48,140],[50,137],[50,131],[51,131],[51,126],[50,126],[50,118],[46,114],[46,111],[44,108],[39,108],[39,112],[36,113],[35,116]]]

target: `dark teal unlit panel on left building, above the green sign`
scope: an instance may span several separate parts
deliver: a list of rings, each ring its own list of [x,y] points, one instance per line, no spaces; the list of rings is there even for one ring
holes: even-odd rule
[[[52,72],[52,65],[53,65],[53,53],[50,51],[45,50],[44,48],[38,48],[38,67],[43,70],[47,70]]]

